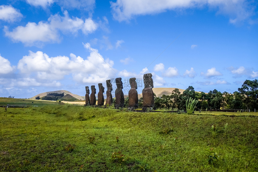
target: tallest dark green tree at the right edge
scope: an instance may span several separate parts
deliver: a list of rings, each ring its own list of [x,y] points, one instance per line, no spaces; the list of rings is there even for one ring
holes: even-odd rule
[[[255,79],[245,80],[242,87],[238,88],[239,93],[242,95],[243,103],[247,110],[258,107],[258,81]]]

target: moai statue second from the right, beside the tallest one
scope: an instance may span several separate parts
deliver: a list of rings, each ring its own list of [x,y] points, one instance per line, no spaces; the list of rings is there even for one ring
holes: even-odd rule
[[[136,78],[130,78],[129,83],[131,85],[131,89],[129,90],[129,105],[128,110],[137,109],[138,108],[138,92],[137,92],[137,83]]]

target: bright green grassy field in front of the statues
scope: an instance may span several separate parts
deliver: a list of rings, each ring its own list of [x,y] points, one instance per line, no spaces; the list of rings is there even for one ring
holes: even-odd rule
[[[208,113],[0,107],[0,171],[258,171],[256,114]]]

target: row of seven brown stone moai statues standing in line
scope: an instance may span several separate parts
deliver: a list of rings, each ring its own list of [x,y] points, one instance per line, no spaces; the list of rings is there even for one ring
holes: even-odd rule
[[[154,107],[154,93],[152,91],[153,88],[153,79],[152,74],[144,74],[143,75],[143,82],[144,82],[144,89],[143,89],[143,110],[147,110],[147,108]],[[112,84],[110,83],[110,80],[106,80],[107,83],[107,99],[106,99],[106,106],[113,104],[113,98],[112,98]],[[129,90],[128,97],[129,97],[129,105],[128,109],[133,110],[138,108],[138,92],[137,92],[137,82],[136,78],[130,78],[129,80],[131,89]],[[116,97],[116,104],[115,107],[123,107],[125,98],[123,93],[123,83],[122,78],[116,78],[116,90],[115,90],[115,97]],[[98,106],[104,105],[104,87],[102,83],[98,84],[99,92],[98,92]],[[91,95],[89,96],[89,87],[85,86],[86,94],[85,94],[85,106],[96,105],[96,89],[95,86],[91,86]]]

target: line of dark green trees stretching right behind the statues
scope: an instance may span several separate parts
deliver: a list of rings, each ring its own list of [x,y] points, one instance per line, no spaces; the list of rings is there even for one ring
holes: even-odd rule
[[[196,92],[193,86],[189,86],[182,94],[179,89],[174,89],[171,95],[162,95],[154,98],[155,109],[185,110],[186,101],[198,100],[195,110],[218,110],[218,109],[246,109],[254,111],[258,109],[258,81],[245,80],[238,91],[232,93],[217,91]],[[142,98],[139,99],[139,107]]]

